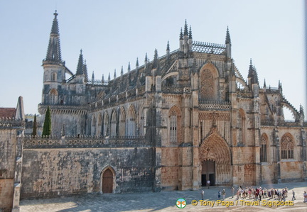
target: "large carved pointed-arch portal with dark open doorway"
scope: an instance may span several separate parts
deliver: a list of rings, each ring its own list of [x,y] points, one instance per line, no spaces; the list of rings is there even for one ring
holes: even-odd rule
[[[200,145],[200,162],[202,163],[202,185],[208,179],[211,185],[232,182],[230,148],[215,128]]]

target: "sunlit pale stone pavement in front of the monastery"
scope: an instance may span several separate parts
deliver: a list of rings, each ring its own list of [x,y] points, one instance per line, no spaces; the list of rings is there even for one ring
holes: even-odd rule
[[[296,200],[293,206],[266,206],[261,201],[259,206],[250,206],[254,201],[236,201],[232,199],[230,187],[203,188],[205,198],[203,203],[215,203],[211,206],[200,206],[201,190],[196,191],[161,191],[157,193],[138,194],[83,194],[75,196],[63,196],[53,199],[21,200],[21,212],[25,211],[307,211],[307,203],[303,203],[303,191],[307,191],[307,182],[291,182],[285,184],[262,185],[262,188],[289,189],[286,201],[291,201],[292,189],[296,191]],[[226,190],[225,203],[233,203],[234,206],[217,206],[217,191]],[[186,200],[185,208],[177,208],[176,201],[179,198]],[[197,200],[198,205],[193,206],[191,201]],[[278,201],[271,200],[273,203]],[[236,205],[237,203],[237,205]]]

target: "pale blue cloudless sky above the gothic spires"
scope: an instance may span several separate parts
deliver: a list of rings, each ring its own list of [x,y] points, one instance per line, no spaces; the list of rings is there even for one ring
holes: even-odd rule
[[[227,26],[232,57],[247,79],[249,60],[260,85],[278,87],[295,108],[305,104],[305,36],[303,1],[0,1],[0,107],[16,107],[23,96],[26,113],[38,113],[43,88],[42,60],[55,9],[62,58],[75,73],[80,49],[89,74],[119,76],[136,57],[144,64],[179,46],[185,19],[193,40],[225,43]],[[306,106],[304,106],[306,108]]]

